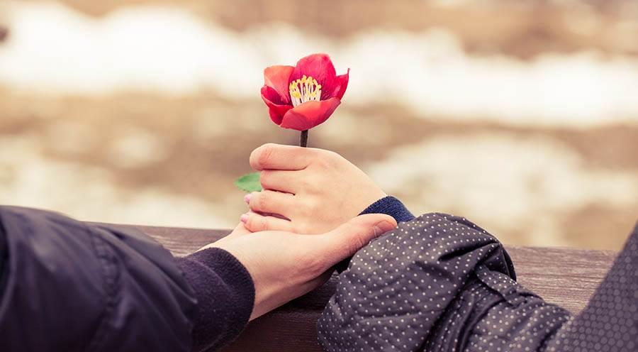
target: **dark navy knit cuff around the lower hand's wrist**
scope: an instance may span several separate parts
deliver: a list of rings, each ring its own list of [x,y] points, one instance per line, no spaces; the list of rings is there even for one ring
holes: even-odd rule
[[[236,339],[254,305],[254,282],[248,270],[220,248],[177,258],[177,265],[197,299],[193,351],[218,349]]]

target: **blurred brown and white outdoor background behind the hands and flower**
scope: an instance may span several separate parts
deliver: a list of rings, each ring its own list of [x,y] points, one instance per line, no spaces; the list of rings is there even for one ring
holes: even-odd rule
[[[638,1],[0,3],[0,203],[225,228],[263,69],[350,73],[310,146],[505,243],[620,248],[638,218]]]

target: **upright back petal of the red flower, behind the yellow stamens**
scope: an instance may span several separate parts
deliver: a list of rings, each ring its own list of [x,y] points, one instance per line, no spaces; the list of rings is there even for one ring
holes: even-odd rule
[[[302,57],[290,75],[290,81],[300,79],[303,75],[317,79],[321,84],[321,99],[331,98],[328,92],[335,90],[337,84],[337,72],[328,54],[313,54]]]

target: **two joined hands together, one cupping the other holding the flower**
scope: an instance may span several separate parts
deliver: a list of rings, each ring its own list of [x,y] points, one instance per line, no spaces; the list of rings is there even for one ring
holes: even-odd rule
[[[204,247],[228,251],[250,273],[250,319],[323,285],[335,264],[396,228],[391,216],[357,216],[386,194],[337,153],[266,144],[250,165],[264,190],[246,197],[251,211],[230,235]]]

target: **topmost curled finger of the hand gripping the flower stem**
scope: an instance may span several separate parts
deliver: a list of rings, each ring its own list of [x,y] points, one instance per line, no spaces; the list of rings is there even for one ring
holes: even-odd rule
[[[250,153],[250,166],[261,170],[303,170],[310,165],[315,149],[267,143]]]

